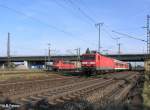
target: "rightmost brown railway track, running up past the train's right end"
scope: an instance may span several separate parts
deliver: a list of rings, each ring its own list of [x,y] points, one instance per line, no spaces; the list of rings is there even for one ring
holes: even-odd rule
[[[135,87],[138,78],[138,75],[131,75],[128,77],[129,82],[122,80],[122,84],[120,83],[115,89],[109,90],[109,92],[104,95],[102,98],[103,102],[101,103],[101,106],[125,103],[128,99],[130,90]]]

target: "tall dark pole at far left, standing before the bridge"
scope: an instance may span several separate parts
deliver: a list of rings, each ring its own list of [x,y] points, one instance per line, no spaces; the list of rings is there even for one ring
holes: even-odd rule
[[[8,38],[7,38],[7,67],[10,69],[10,33],[8,32]]]

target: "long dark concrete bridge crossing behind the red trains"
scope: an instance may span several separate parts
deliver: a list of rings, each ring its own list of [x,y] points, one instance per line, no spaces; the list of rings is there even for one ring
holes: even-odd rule
[[[146,58],[149,57],[148,54],[113,54],[106,55],[108,57],[112,57],[121,61],[127,62],[144,62]],[[69,61],[76,61],[76,55],[58,55],[51,56],[51,61],[55,59],[64,59]],[[45,64],[45,61],[48,61],[48,56],[12,56],[11,62],[22,62],[25,68],[32,68],[34,66],[42,66]],[[0,57],[0,66],[4,65],[7,62],[7,57]]]

